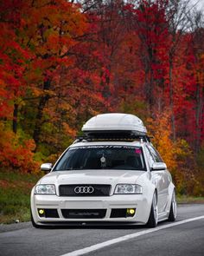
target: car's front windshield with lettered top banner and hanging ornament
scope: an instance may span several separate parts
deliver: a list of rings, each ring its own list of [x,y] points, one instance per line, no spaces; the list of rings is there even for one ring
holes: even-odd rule
[[[128,146],[74,147],[54,167],[54,171],[84,169],[145,170],[143,150]]]

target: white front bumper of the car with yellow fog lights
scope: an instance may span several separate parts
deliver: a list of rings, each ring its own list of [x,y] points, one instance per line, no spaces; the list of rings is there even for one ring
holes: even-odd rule
[[[136,212],[133,216],[116,216],[117,212],[121,212],[121,209],[134,208]],[[57,213],[54,218],[52,215],[39,216],[39,209],[55,209]],[[85,218],[80,215],[77,217],[65,216],[63,211],[73,210],[79,212],[85,211],[102,211],[104,215]],[[58,225],[67,223],[136,223],[143,225],[147,223],[150,215],[150,202],[148,198],[145,198],[143,194],[114,194],[106,197],[60,197],[57,195],[39,195],[31,193],[31,211],[35,223],[38,225]],[[72,211],[71,211],[72,212]],[[123,210],[122,210],[123,212]]]

